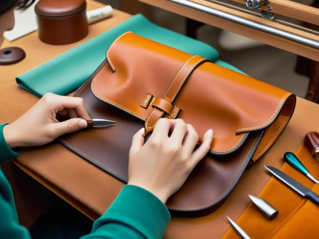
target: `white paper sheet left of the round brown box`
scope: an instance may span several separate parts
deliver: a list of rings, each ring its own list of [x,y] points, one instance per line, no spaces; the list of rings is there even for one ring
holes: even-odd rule
[[[4,37],[8,41],[16,40],[38,29],[37,19],[34,12],[34,6],[39,0],[36,0],[32,6],[25,11],[14,10],[15,25],[11,31],[4,32]]]

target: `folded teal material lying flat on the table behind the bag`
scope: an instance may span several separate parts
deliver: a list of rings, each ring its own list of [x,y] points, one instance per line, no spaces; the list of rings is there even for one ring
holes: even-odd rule
[[[134,32],[212,62],[218,52],[211,46],[162,28],[137,14],[120,25],[16,77],[19,86],[39,97],[47,92],[66,95],[77,89],[104,61],[111,43],[122,33]]]

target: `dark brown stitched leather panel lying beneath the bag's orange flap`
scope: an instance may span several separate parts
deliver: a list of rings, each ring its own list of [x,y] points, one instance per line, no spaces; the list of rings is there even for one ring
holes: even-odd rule
[[[108,63],[104,62],[91,78],[79,88],[75,96],[84,99],[91,117],[114,120],[117,122],[117,127],[64,135],[60,142],[101,170],[108,172],[122,182],[127,182],[131,138],[143,126],[144,122],[126,111],[94,97],[90,83],[105,64]],[[236,156],[222,156],[219,159],[206,157],[203,159],[192,171],[182,188],[167,200],[167,207],[171,214],[201,216],[216,210],[237,184],[261,136],[262,134],[259,132],[249,134],[246,138],[247,143],[238,150]],[[219,187],[212,186],[216,184]]]

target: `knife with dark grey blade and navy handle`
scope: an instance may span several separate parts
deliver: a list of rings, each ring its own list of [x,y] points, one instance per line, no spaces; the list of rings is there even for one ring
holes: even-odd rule
[[[303,198],[309,199],[313,203],[319,206],[319,196],[312,192],[309,188],[305,187],[298,181],[294,180],[292,177],[288,176],[286,173],[280,171],[271,166],[264,166],[268,171],[270,171],[276,178],[281,182],[285,183],[287,186],[292,188],[295,192],[298,192]]]

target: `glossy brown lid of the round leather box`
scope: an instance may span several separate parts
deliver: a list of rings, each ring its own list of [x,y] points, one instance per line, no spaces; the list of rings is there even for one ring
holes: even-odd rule
[[[85,0],[40,0],[35,13],[47,17],[64,17],[85,10]]]

